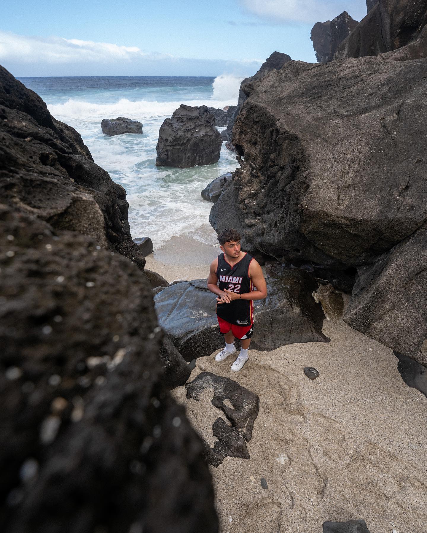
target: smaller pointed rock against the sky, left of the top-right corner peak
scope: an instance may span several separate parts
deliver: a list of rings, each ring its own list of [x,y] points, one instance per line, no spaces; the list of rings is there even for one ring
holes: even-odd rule
[[[332,21],[316,22],[311,29],[311,41],[316,52],[318,63],[327,63],[333,59],[338,45],[350,35],[358,25],[358,21],[343,11]]]

